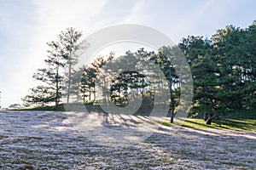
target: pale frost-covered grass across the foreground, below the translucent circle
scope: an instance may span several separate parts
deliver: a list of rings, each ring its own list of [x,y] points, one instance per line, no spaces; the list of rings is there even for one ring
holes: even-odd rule
[[[0,111],[1,169],[255,169],[255,144],[253,131],[189,127],[96,144],[64,112]]]

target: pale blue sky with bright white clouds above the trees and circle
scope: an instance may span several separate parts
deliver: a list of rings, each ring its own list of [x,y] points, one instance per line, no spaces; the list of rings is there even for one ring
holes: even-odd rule
[[[107,26],[150,26],[177,43],[211,37],[228,25],[256,20],[254,0],[0,0],[0,91],[2,107],[22,104],[32,75],[44,66],[46,42],[67,27],[84,37]]]

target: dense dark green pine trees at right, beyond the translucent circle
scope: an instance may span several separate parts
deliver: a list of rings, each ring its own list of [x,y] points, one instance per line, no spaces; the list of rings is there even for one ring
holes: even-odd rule
[[[227,111],[250,108],[256,97],[256,22],[241,29],[226,26],[211,39],[183,38],[179,44],[194,79],[191,114],[207,123]]]

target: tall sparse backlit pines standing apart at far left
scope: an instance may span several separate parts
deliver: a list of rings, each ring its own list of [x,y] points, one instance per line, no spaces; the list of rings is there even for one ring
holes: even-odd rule
[[[52,102],[55,102],[55,105],[60,104],[63,95],[62,89],[70,89],[72,84],[71,77],[75,72],[73,65],[76,65],[79,60],[79,55],[76,52],[84,48],[81,37],[82,33],[71,27],[66,31],[61,31],[57,41],[47,43],[49,50],[47,58],[44,59],[46,67],[38,69],[33,75],[33,78],[43,83],[30,89],[30,94],[22,99],[26,104],[45,105]],[[67,68],[67,71],[63,71],[64,67]],[[66,79],[64,79],[65,75]],[[63,84],[67,85],[64,87]],[[66,95],[69,97],[70,94]]]

